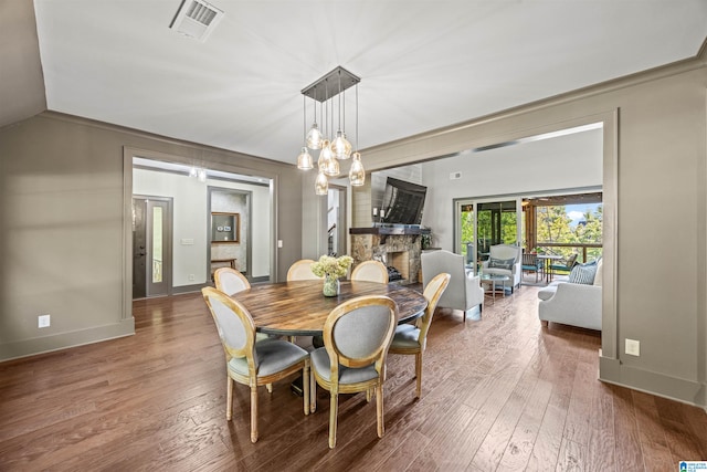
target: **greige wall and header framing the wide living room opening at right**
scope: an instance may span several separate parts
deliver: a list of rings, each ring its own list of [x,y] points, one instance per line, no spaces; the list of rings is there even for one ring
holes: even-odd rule
[[[707,66],[693,61],[367,149],[368,170],[602,120],[600,377],[707,406]],[[354,192],[355,198],[357,192]],[[370,191],[354,219],[370,212]],[[452,202],[441,202],[449,206]],[[435,223],[435,231],[443,230]],[[624,354],[625,338],[641,356]],[[599,355],[599,353],[598,353]]]

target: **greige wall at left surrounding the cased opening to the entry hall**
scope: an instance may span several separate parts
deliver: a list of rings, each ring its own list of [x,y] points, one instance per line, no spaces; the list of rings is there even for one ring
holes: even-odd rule
[[[302,178],[294,166],[39,115],[0,129],[0,360],[134,333],[124,279],[124,181],[131,181],[125,147],[273,178],[273,225],[286,242],[273,248],[281,279],[299,259]],[[39,329],[38,315],[46,313],[52,325]]]

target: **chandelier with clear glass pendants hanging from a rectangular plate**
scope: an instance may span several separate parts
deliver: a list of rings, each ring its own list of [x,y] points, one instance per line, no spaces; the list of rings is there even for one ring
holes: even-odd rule
[[[327,195],[329,190],[329,177],[338,177],[340,171],[339,160],[351,159],[349,168],[349,181],[355,187],[360,187],[366,182],[366,170],[361,162],[361,155],[358,151],[358,83],[361,80],[338,66],[314,84],[302,91],[304,97],[304,132],[305,146],[297,156],[297,168],[308,170],[314,167],[314,159],[309,149],[319,150],[317,160],[317,179],[315,180],[315,193]],[[356,148],[346,137],[346,93],[345,91],[356,85]],[[307,97],[315,101],[314,123],[307,132]],[[338,104],[335,103],[338,97]],[[344,104],[341,103],[344,98]],[[318,104],[317,104],[318,102]],[[317,105],[319,105],[319,116],[323,119],[321,129],[317,124]],[[335,106],[337,105],[337,106]],[[335,112],[336,108],[336,112]],[[334,134],[334,118],[338,118],[338,128]],[[330,124],[330,126],[329,126]],[[327,136],[331,136],[329,139]]]

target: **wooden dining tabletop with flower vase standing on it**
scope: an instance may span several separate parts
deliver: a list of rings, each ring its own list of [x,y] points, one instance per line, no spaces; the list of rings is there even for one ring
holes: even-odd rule
[[[398,323],[422,316],[428,301],[415,290],[399,284],[341,281],[338,296],[324,296],[323,281],[256,284],[231,295],[247,308],[255,327],[265,334],[321,336],[329,312],[347,300],[386,295],[398,304]]]

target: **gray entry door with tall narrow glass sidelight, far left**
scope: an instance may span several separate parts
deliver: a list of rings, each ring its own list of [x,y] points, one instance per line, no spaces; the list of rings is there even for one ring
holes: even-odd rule
[[[133,300],[171,294],[172,199],[133,197]]]

